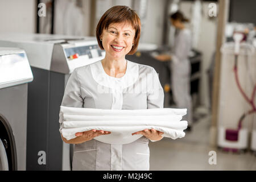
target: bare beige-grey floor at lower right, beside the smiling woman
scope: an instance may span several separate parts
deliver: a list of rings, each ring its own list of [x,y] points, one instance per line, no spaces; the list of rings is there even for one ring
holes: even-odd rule
[[[252,152],[232,154],[209,146],[210,117],[201,118],[181,139],[150,142],[150,170],[256,170]],[[209,151],[216,151],[217,164],[210,165]]]

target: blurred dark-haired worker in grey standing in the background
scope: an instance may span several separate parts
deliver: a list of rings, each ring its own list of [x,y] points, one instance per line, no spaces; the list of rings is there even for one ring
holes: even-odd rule
[[[171,60],[172,94],[178,108],[188,108],[184,118],[189,122],[187,128],[189,131],[193,123],[190,95],[191,63],[188,59],[191,51],[191,31],[185,27],[184,22],[188,22],[188,19],[184,18],[180,11],[170,15],[170,20],[177,31],[174,48],[170,55],[158,55],[156,59],[159,61]]]

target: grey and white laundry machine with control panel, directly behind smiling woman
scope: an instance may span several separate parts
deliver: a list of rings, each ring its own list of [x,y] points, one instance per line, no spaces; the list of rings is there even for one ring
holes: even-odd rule
[[[70,170],[72,145],[61,140],[59,111],[73,70],[105,57],[94,37],[1,34],[0,45],[25,49],[34,81],[28,86],[27,170]]]

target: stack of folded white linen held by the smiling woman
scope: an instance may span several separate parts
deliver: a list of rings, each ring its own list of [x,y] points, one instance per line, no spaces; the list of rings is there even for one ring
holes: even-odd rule
[[[172,139],[185,136],[187,121],[181,121],[187,109],[111,110],[60,106],[60,133],[67,140],[76,138],[78,132],[95,130],[111,131],[94,139],[109,144],[127,144],[142,135],[131,135],[144,129],[162,131],[163,137]]]

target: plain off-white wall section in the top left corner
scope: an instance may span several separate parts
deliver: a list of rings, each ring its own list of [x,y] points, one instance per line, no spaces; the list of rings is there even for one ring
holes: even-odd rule
[[[35,0],[0,0],[0,33],[36,31]]]

